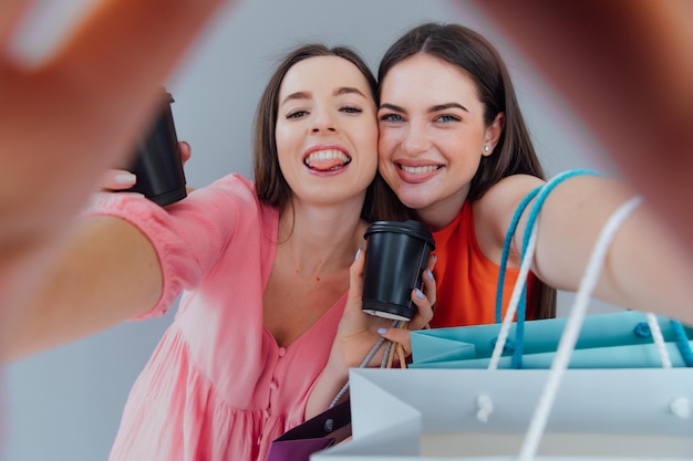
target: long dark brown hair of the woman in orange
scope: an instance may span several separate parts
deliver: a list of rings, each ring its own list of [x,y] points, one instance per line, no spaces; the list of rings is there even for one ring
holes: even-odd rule
[[[484,121],[489,126],[496,115],[505,114],[505,127],[493,155],[482,157],[472,179],[468,199],[480,199],[500,179],[511,175],[531,175],[545,179],[544,170],[525,125],[508,70],[494,45],[472,29],[459,24],[427,22],[402,35],[383,56],[377,81],[399,62],[417,53],[446,61],[468,75],[476,84],[484,104]],[[556,290],[537,281],[534,296],[540,318],[556,316]]]

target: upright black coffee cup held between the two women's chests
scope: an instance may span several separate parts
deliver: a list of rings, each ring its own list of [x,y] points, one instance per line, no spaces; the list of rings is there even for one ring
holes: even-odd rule
[[[421,289],[422,274],[435,241],[418,221],[375,221],[366,239],[363,273],[363,312],[410,321],[416,306],[412,290]]]

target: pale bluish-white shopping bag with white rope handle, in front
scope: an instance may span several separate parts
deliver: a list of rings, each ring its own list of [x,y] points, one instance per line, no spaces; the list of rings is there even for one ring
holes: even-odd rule
[[[353,440],[311,461],[510,460],[548,370],[353,369]],[[693,369],[571,369],[537,458],[693,459]]]

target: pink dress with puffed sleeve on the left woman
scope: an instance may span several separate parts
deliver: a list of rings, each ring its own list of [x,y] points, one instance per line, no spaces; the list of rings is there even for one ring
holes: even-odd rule
[[[90,213],[126,219],[153,242],[164,294],[142,318],[180,305],[125,405],[111,461],[265,460],[269,443],[303,421],[327,364],[346,294],[289,347],[262,324],[262,292],[278,212],[237,175],[166,210],[103,195]]]

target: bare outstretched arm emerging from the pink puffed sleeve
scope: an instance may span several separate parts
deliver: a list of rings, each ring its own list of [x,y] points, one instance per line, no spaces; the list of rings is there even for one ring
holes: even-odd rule
[[[101,332],[148,312],[159,300],[162,266],[135,226],[115,217],[84,217],[66,235],[6,332],[0,362]]]

